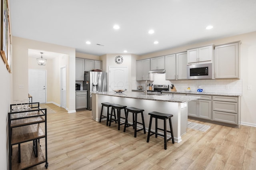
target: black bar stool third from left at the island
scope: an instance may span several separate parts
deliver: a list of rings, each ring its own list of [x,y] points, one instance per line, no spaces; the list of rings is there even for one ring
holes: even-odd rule
[[[132,113],[132,125],[128,123],[128,113],[131,112]],[[137,109],[135,107],[127,107],[126,108],[126,115],[125,115],[125,123],[124,123],[124,132],[126,130],[126,127],[130,127],[132,126],[134,128],[134,138],[136,138],[137,136],[137,132],[140,130],[144,130],[144,134],[146,134],[146,128],[145,128],[145,123],[144,123],[144,117],[143,117],[143,109]],[[142,123],[137,122],[137,115],[138,113],[141,113],[141,119],[142,119]],[[134,119],[135,117],[135,119]],[[143,126],[143,128],[138,129],[137,130],[137,124],[140,124]]]

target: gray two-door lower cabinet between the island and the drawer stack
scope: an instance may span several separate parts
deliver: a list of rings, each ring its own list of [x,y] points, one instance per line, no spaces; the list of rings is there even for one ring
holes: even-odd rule
[[[188,116],[198,117],[202,119],[211,119],[212,112],[212,96],[210,95],[188,95],[200,96],[201,99],[188,102]]]

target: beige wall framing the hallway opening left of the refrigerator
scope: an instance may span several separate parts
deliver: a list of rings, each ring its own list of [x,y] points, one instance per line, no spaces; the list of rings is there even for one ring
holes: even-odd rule
[[[38,42],[34,40],[28,40],[24,38],[13,37],[13,99],[25,99],[28,95],[28,49],[39,49],[42,51],[50,51],[54,53],[66,54],[68,57],[60,57],[55,59],[52,63],[53,79],[58,79],[60,67],[66,65],[66,107],[69,113],[75,112],[76,108],[76,96],[75,96],[75,49],[70,47],[64,47],[61,45],[54,45],[50,43]],[[50,65],[49,65],[50,66]],[[47,67],[47,66],[46,66]],[[41,67],[43,68],[43,67]],[[55,82],[55,81],[54,81]],[[52,91],[54,96],[52,99],[54,102],[60,104],[58,96],[60,90],[56,90],[60,87],[60,81],[58,84],[52,84]],[[19,89],[19,85],[24,85],[24,89]],[[55,92],[57,95],[55,95]]]

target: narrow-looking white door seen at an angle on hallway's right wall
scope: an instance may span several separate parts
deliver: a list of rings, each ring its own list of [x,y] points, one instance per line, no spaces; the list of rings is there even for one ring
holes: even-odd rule
[[[66,66],[60,68],[61,81],[60,81],[60,106],[66,109]]]

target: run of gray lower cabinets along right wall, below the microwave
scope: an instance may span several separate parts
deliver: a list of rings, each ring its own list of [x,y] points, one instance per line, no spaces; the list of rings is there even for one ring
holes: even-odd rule
[[[200,96],[200,99],[188,102],[188,116],[208,119],[226,125],[241,124],[241,97],[218,95],[194,95],[185,93],[164,93],[169,95]]]

